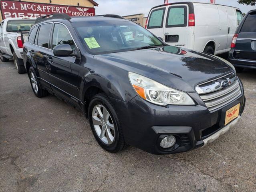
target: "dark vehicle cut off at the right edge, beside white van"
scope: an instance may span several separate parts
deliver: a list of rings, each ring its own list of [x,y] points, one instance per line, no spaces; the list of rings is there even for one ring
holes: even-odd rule
[[[250,10],[236,29],[229,60],[238,72],[256,69],[256,10]]]

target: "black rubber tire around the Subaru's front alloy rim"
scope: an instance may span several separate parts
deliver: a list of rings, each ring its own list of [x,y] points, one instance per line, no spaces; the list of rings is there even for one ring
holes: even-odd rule
[[[113,120],[113,125],[115,128],[115,138],[113,140],[113,143],[110,145],[105,144],[99,138],[99,136],[97,135],[95,128],[93,126],[92,112],[93,112],[94,106],[96,106],[97,104],[103,105],[107,109],[107,111],[109,112],[109,114],[111,116],[111,119]],[[125,143],[125,140],[124,140],[121,124],[119,122],[118,114],[115,110],[115,106],[113,105],[111,100],[105,94],[103,94],[103,93],[97,94],[91,99],[88,112],[89,112],[89,122],[90,122],[90,126],[91,126],[91,130],[93,132],[93,135],[94,135],[95,139],[97,140],[97,142],[99,143],[99,145],[103,149],[105,149],[111,153],[117,153],[127,147],[127,144]]]

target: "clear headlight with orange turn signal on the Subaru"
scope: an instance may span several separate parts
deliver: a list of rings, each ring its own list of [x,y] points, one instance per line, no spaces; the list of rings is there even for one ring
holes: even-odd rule
[[[139,96],[158,105],[194,105],[185,92],[167,87],[142,75],[129,72],[130,82]]]

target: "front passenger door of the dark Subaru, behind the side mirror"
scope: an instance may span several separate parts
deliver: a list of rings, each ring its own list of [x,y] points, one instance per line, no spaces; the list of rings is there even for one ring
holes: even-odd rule
[[[52,49],[60,44],[69,44],[73,50],[76,48],[75,42],[66,26],[55,23],[52,32],[51,48],[47,54],[52,89],[73,104],[79,105],[79,84],[81,78],[79,77],[78,70],[74,70],[74,65],[79,66],[80,61],[73,56],[54,56]]]

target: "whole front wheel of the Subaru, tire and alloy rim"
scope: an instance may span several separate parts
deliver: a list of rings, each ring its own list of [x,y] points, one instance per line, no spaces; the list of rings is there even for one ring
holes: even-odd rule
[[[89,104],[89,121],[99,145],[111,152],[123,150],[127,144],[115,106],[103,93],[95,95]]]

